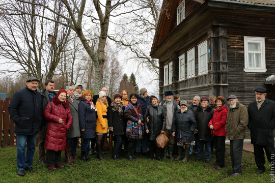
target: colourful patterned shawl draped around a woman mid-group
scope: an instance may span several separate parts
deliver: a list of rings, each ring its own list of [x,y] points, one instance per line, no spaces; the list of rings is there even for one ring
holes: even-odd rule
[[[140,105],[139,101],[136,101],[136,105],[132,105],[132,103],[129,102],[125,106],[124,111],[126,118],[128,118],[130,115],[137,119],[141,119],[142,117],[142,106]],[[143,133],[144,124],[137,124],[130,120],[127,121],[126,137],[130,139],[142,139]]]

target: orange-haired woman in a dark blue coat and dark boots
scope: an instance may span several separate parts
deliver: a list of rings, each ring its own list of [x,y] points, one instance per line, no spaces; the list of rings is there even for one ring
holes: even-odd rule
[[[78,104],[78,119],[80,136],[82,138],[81,160],[91,161],[89,158],[89,147],[92,138],[95,138],[96,127],[96,107],[92,102],[93,94],[89,90],[85,90]]]

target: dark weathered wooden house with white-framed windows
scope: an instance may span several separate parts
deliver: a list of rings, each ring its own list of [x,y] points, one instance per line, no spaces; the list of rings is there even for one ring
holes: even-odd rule
[[[150,55],[161,99],[173,89],[189,103],[233,94],[248,106],[261,86],[275,101],[275,1],[164,0]]]

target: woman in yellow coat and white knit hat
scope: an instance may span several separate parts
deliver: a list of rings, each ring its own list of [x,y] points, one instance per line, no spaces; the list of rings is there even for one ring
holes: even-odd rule
[[[98,94],[99,98],[96,102],[97,119],[96,119],[96,147],[97,147],[97,158],[105,160],[102,155],[102,137],[108,132],[107,124],[107,107],[108,103],[106,100],[105,92],[101,91]]]

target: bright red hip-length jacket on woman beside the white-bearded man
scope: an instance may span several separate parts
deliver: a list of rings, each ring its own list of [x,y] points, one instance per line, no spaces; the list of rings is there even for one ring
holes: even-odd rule
[[[215,136],[226,136],[225,132],[225,125],[226,125],[226,118],[227,118],[228,108],[223,106],[221,108],[216,108],[214,110],[214,114],[212,119],[209,121],[209,125],[214,126],[214,130],[211,130],[211,135]]]

